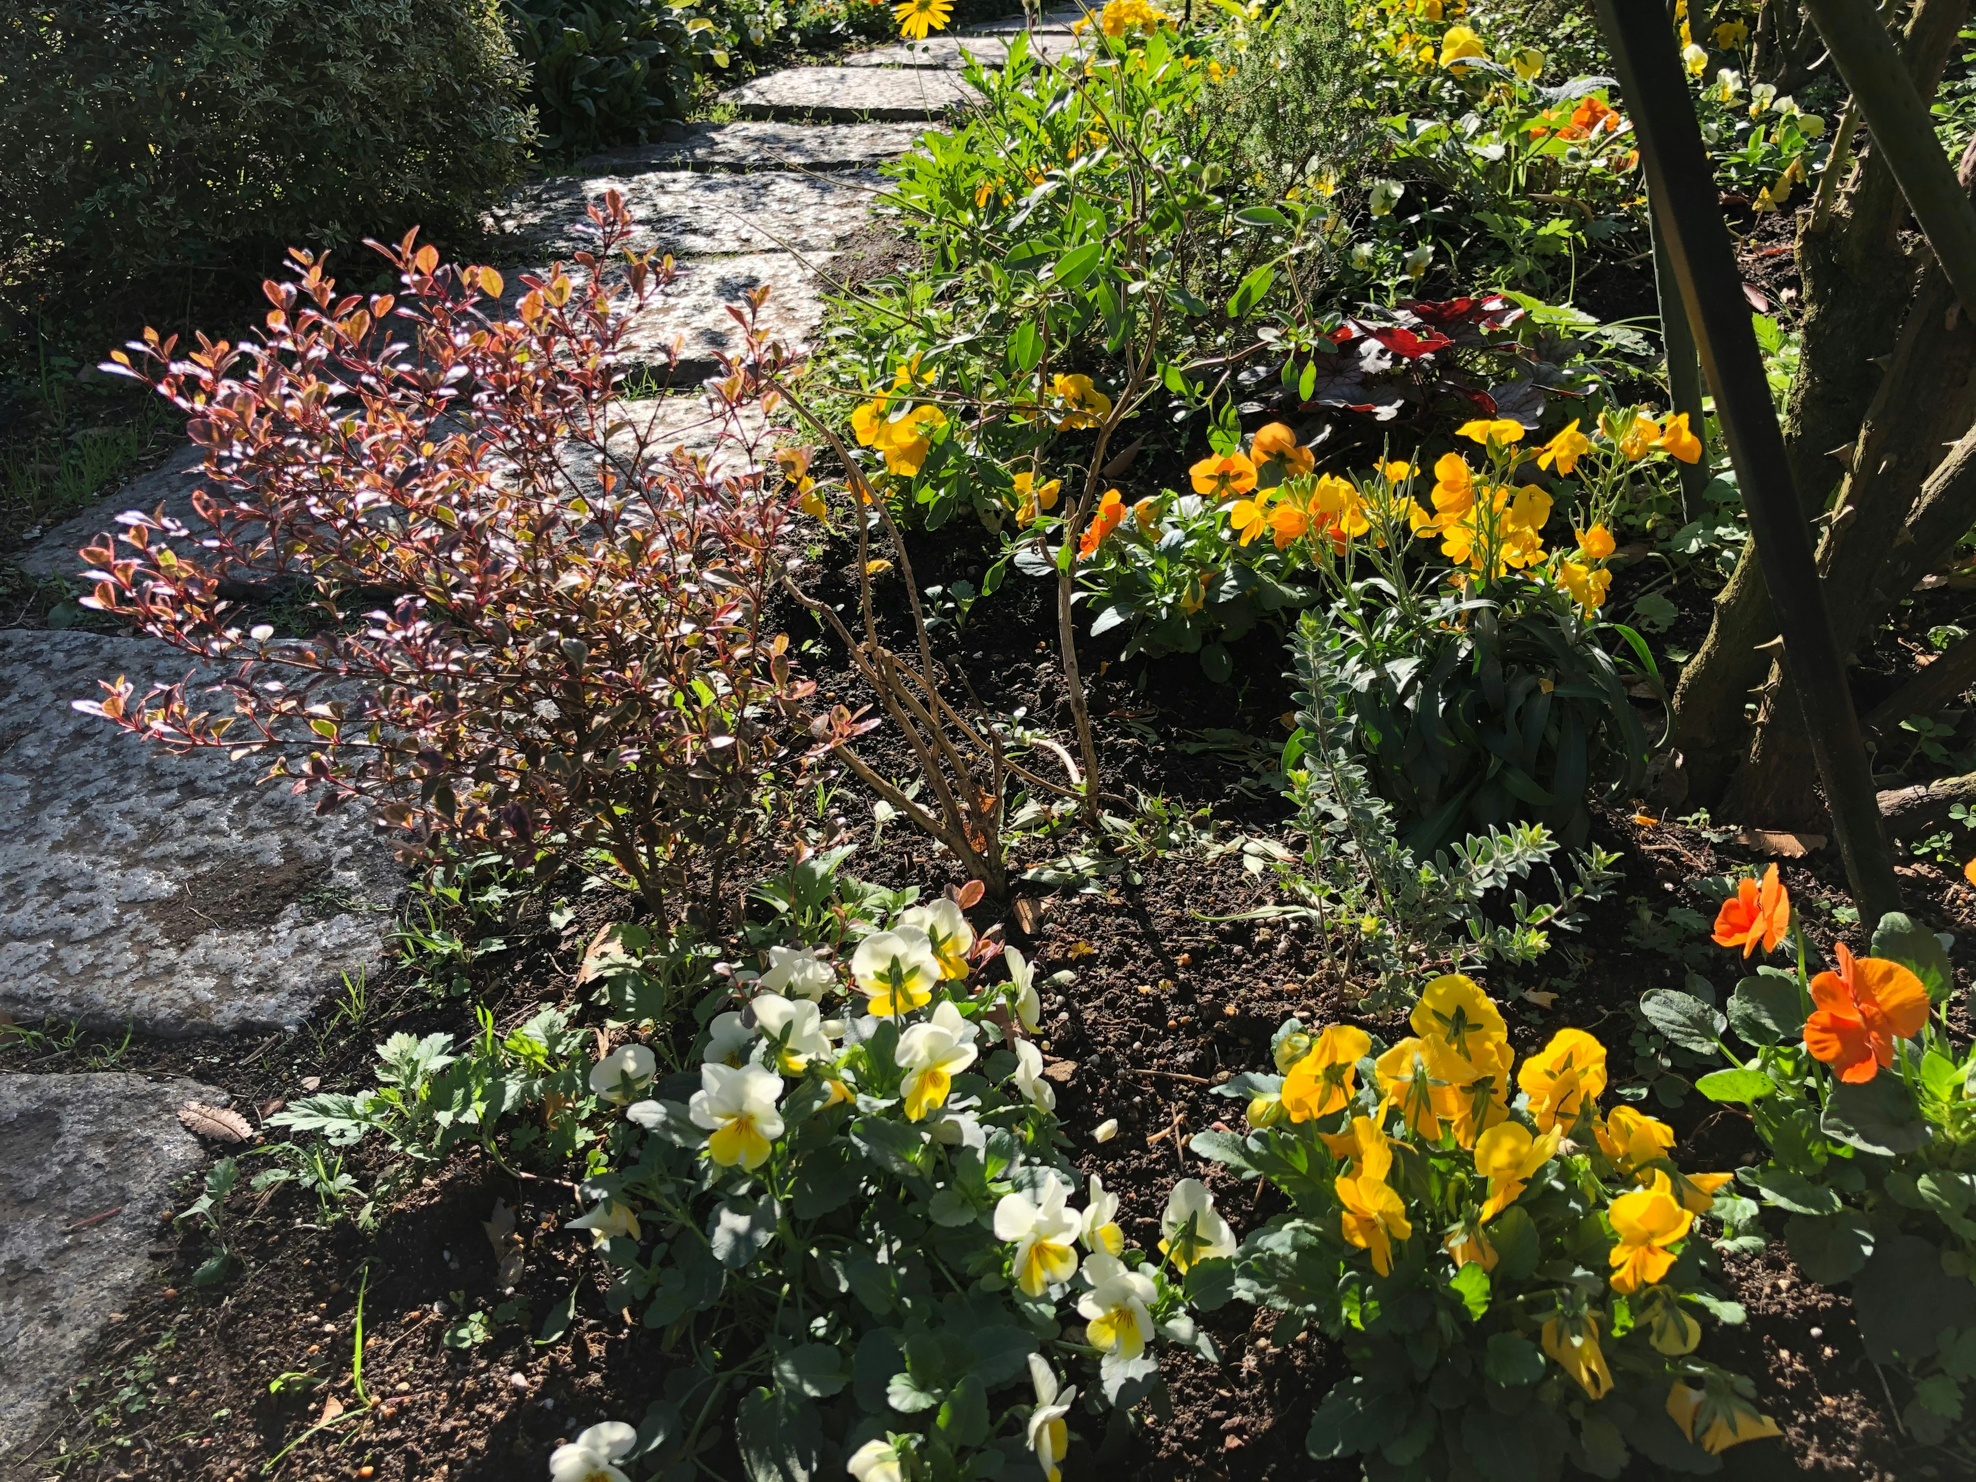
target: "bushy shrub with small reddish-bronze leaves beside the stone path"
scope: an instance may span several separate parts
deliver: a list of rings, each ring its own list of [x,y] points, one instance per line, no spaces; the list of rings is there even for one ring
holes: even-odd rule
[[[83,551],[87,603],[202,672],[77,707],[172,751],[265,755],[411,854],[615,865],[662,919],[717,905],[759,798],[800,765],[810,694],[765,630],[792,490],[749,433],[790,364],[755,332],[763,294],[729,308],[745,348],[705,387],[719,447],[666,451],[613,366],[672,263],[626,249],[615,194],[589,215],[597,251],[522,279],[512,314],[498,273],[407,235],[377,247],[399,294],[338,294],[296,251],[257,342],[119,352],[111,370],[190,415],[206,528],[121,516]],[[247,626],[243,583],[267,581],[314,605],[316,636]]]

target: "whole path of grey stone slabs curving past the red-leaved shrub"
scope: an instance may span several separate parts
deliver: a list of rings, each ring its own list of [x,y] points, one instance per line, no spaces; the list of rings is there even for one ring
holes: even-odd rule
[[[1035,47],[1067,55],[1077,14],[1045,16]],[[739,348],[725,304],[747,288],[773,288],[773,334],[814,334],[824,275],[881,186],[877,166],[974,97],[962,47],[994,63],[1022,28],[992,22],[759,77],[723,99],[737,123],[583,160],[516,192],[498,225],[528,271],[577,245],[587,200],[624,192],[640,239],[680,265],[674,290],[630,326],[630,358],[660,370],[678,340],[670,385],[690,391],[717,352]],[[626,413],[668,443],[711,447],[696,395]],[[164,504],[198,530],[196,486],[188,449],[47,532],[20,565],[77,577],[77,547],[128,508]],[[142,690],[188,668],[148,638],[0,630],[0,1010],[20,1022],[285,1029],[340,972],[383,956],[403,877],[360,812],[316,816],[308,798],[255,786],[251,759],[172,757],[69,705],[99,678]],[[0,1075],[0,1474],[59,1423],[51,1401],[146,1280],[174,1182],[207,1162],[174,1114],[188,1097],[225,1101],[136,1075]]]

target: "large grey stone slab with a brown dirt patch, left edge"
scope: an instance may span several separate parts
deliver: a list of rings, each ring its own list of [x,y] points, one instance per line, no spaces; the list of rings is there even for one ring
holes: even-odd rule
[[[265,761],[174,757],[83,715],[196,666],[150,638],[0,630],[0,1008],[196,1035],[298,1026],[375,972],[403,893],[362,808],[257,786]],[[215,709],[227,701],[213,700]]]

